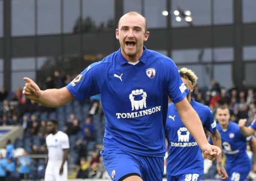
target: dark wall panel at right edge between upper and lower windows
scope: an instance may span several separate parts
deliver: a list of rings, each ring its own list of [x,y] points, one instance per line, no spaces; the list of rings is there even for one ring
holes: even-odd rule
[[[256,24],[244,24],[243,25],[243,44],[244,45],[256,45]]]

